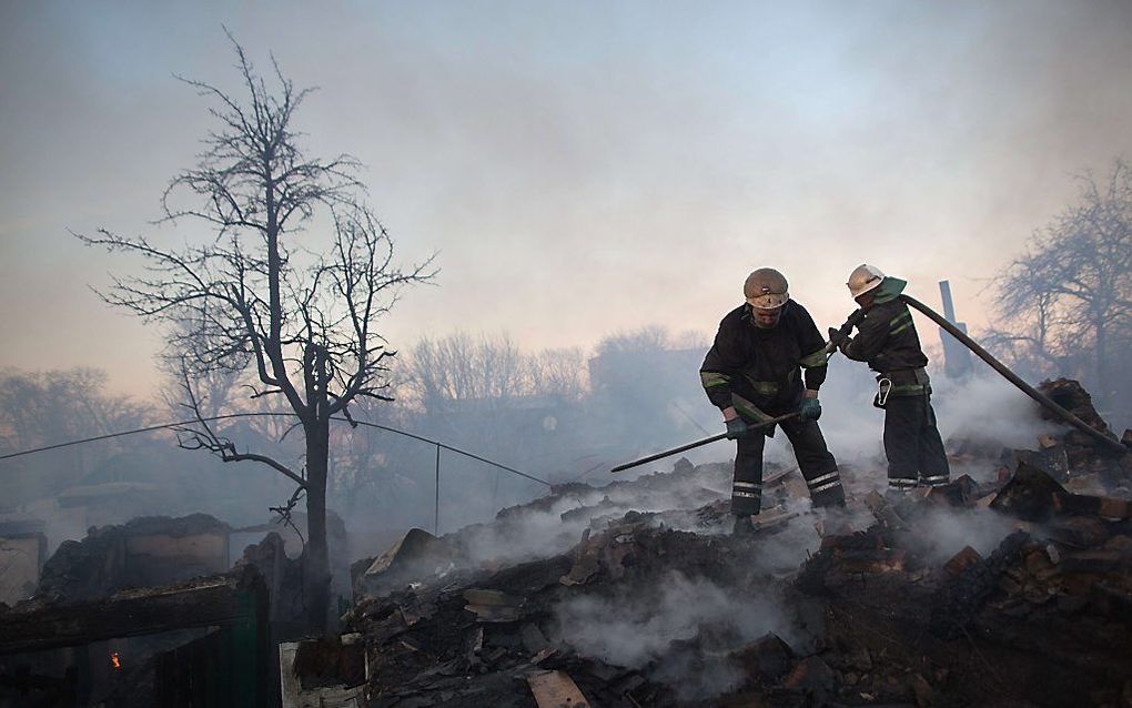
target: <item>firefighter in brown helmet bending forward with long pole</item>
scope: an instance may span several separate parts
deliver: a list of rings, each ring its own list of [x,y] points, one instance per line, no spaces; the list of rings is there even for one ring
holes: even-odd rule
[[[743,295],[745,302],[720,322],[700,368],[707,398],[722,411],[728,437],[737,444],[731,488],[736,532],[752,530],[751,517],[762,507],[763,446],[774,434],[774,426],[751,430],[748,424],[786,413],[798,413],[779,425],[794,446],[814,505],[844,504],[837,462],[817,427],[825,341],[774,268],[747,276]]]

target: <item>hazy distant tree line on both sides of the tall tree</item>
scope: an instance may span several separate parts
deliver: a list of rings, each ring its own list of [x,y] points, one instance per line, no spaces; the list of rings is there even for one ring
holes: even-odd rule
[[[706,335],[672,336],[659,325],[619,332],[588,353],[581,348],[521,350],[507,335],[457,332],[424,338],[391,367],[388,396],[352,407],[352,417],[468,450],[551,481],[566,481],[628,455],[697,437],[704,413],[696,367]],[[254,372],[216,368],[191,379],[185,401],[183,364],[160,360],[165,385],[153,402],[106,392],[105,374],[76,368],[0,373],[0,451],[105,435],[158,423],[239,412],[281,417],[214,424],[241,453],[301,464],[297,420],[278,396],[256,395]],[[591,381],[591,370],[599,373]],[[597,385],[594,385],[597,384]],[[707,420],[702,425],[710,426]],[[328,505],[354,523],[429,526],[435,449],[375,430],[331,426]],[[541,493],[538,485],[446,454],[445,527],[482,520],[500,505]],[[224,471],[209,458],[179,453],[169,433],[123,437],[0,463],[10,506],[74,486],[157,481],[137,514],[214,513],[235,524],[260,522],[285,501],[286,480],[255,468]],[[125,521],[126,519],[122,519]],[[428,522],[428,523],[427,523]]]

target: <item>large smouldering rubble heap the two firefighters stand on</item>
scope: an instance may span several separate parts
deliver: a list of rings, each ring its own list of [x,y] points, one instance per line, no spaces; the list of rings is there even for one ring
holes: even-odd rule
[[[1130,706],[1132,458],[1071,435],[901,497],[851,470],[821,514],[770,469],[749,536],[730,466],[684,460],[413,530],[353,569],[352,683],[389,708]]]

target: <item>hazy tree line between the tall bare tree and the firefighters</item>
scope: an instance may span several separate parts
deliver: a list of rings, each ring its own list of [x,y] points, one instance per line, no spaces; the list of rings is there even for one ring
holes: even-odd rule
[[[689,411],[702,398],[696,372],[706,346],[704,335],[671,336],[658,325],[608,335],[592,355],[524,352],[503,334],[426,338],[392,366],[395,402],[358,415],[561,483],[698,436]],[[333,464],[343,505],[377,504],[393,517],[430,509],[432,481],[421,478],[430,451],[363,428],[340,434],[351,438],[340,445],[350,454]],[[458,455],[441,467],[448,529],[541,492]]]

